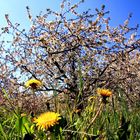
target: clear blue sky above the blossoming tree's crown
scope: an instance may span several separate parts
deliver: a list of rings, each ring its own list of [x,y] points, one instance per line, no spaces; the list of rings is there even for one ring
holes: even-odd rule
[[[71,0],[77,2],[78,0]],[[0,28],[5,26],[5,14],[10,15],[13,22],[18,22],[23,28],[29,26],[27,21],[26,6],[29,6],[33,15],[38,15],[40,11],[46,8],[59,11],[61,0],[1,0],[0,1]],[[110,11],[111,25],[122,24],[129,13],[133,13],[130,24],[132,26],[140,24],[140,1],[139,0],[85,0],[85,3],[79,7],[80,11],[91,8],[100,8],[102,4],[106,5],[106,10]]]

